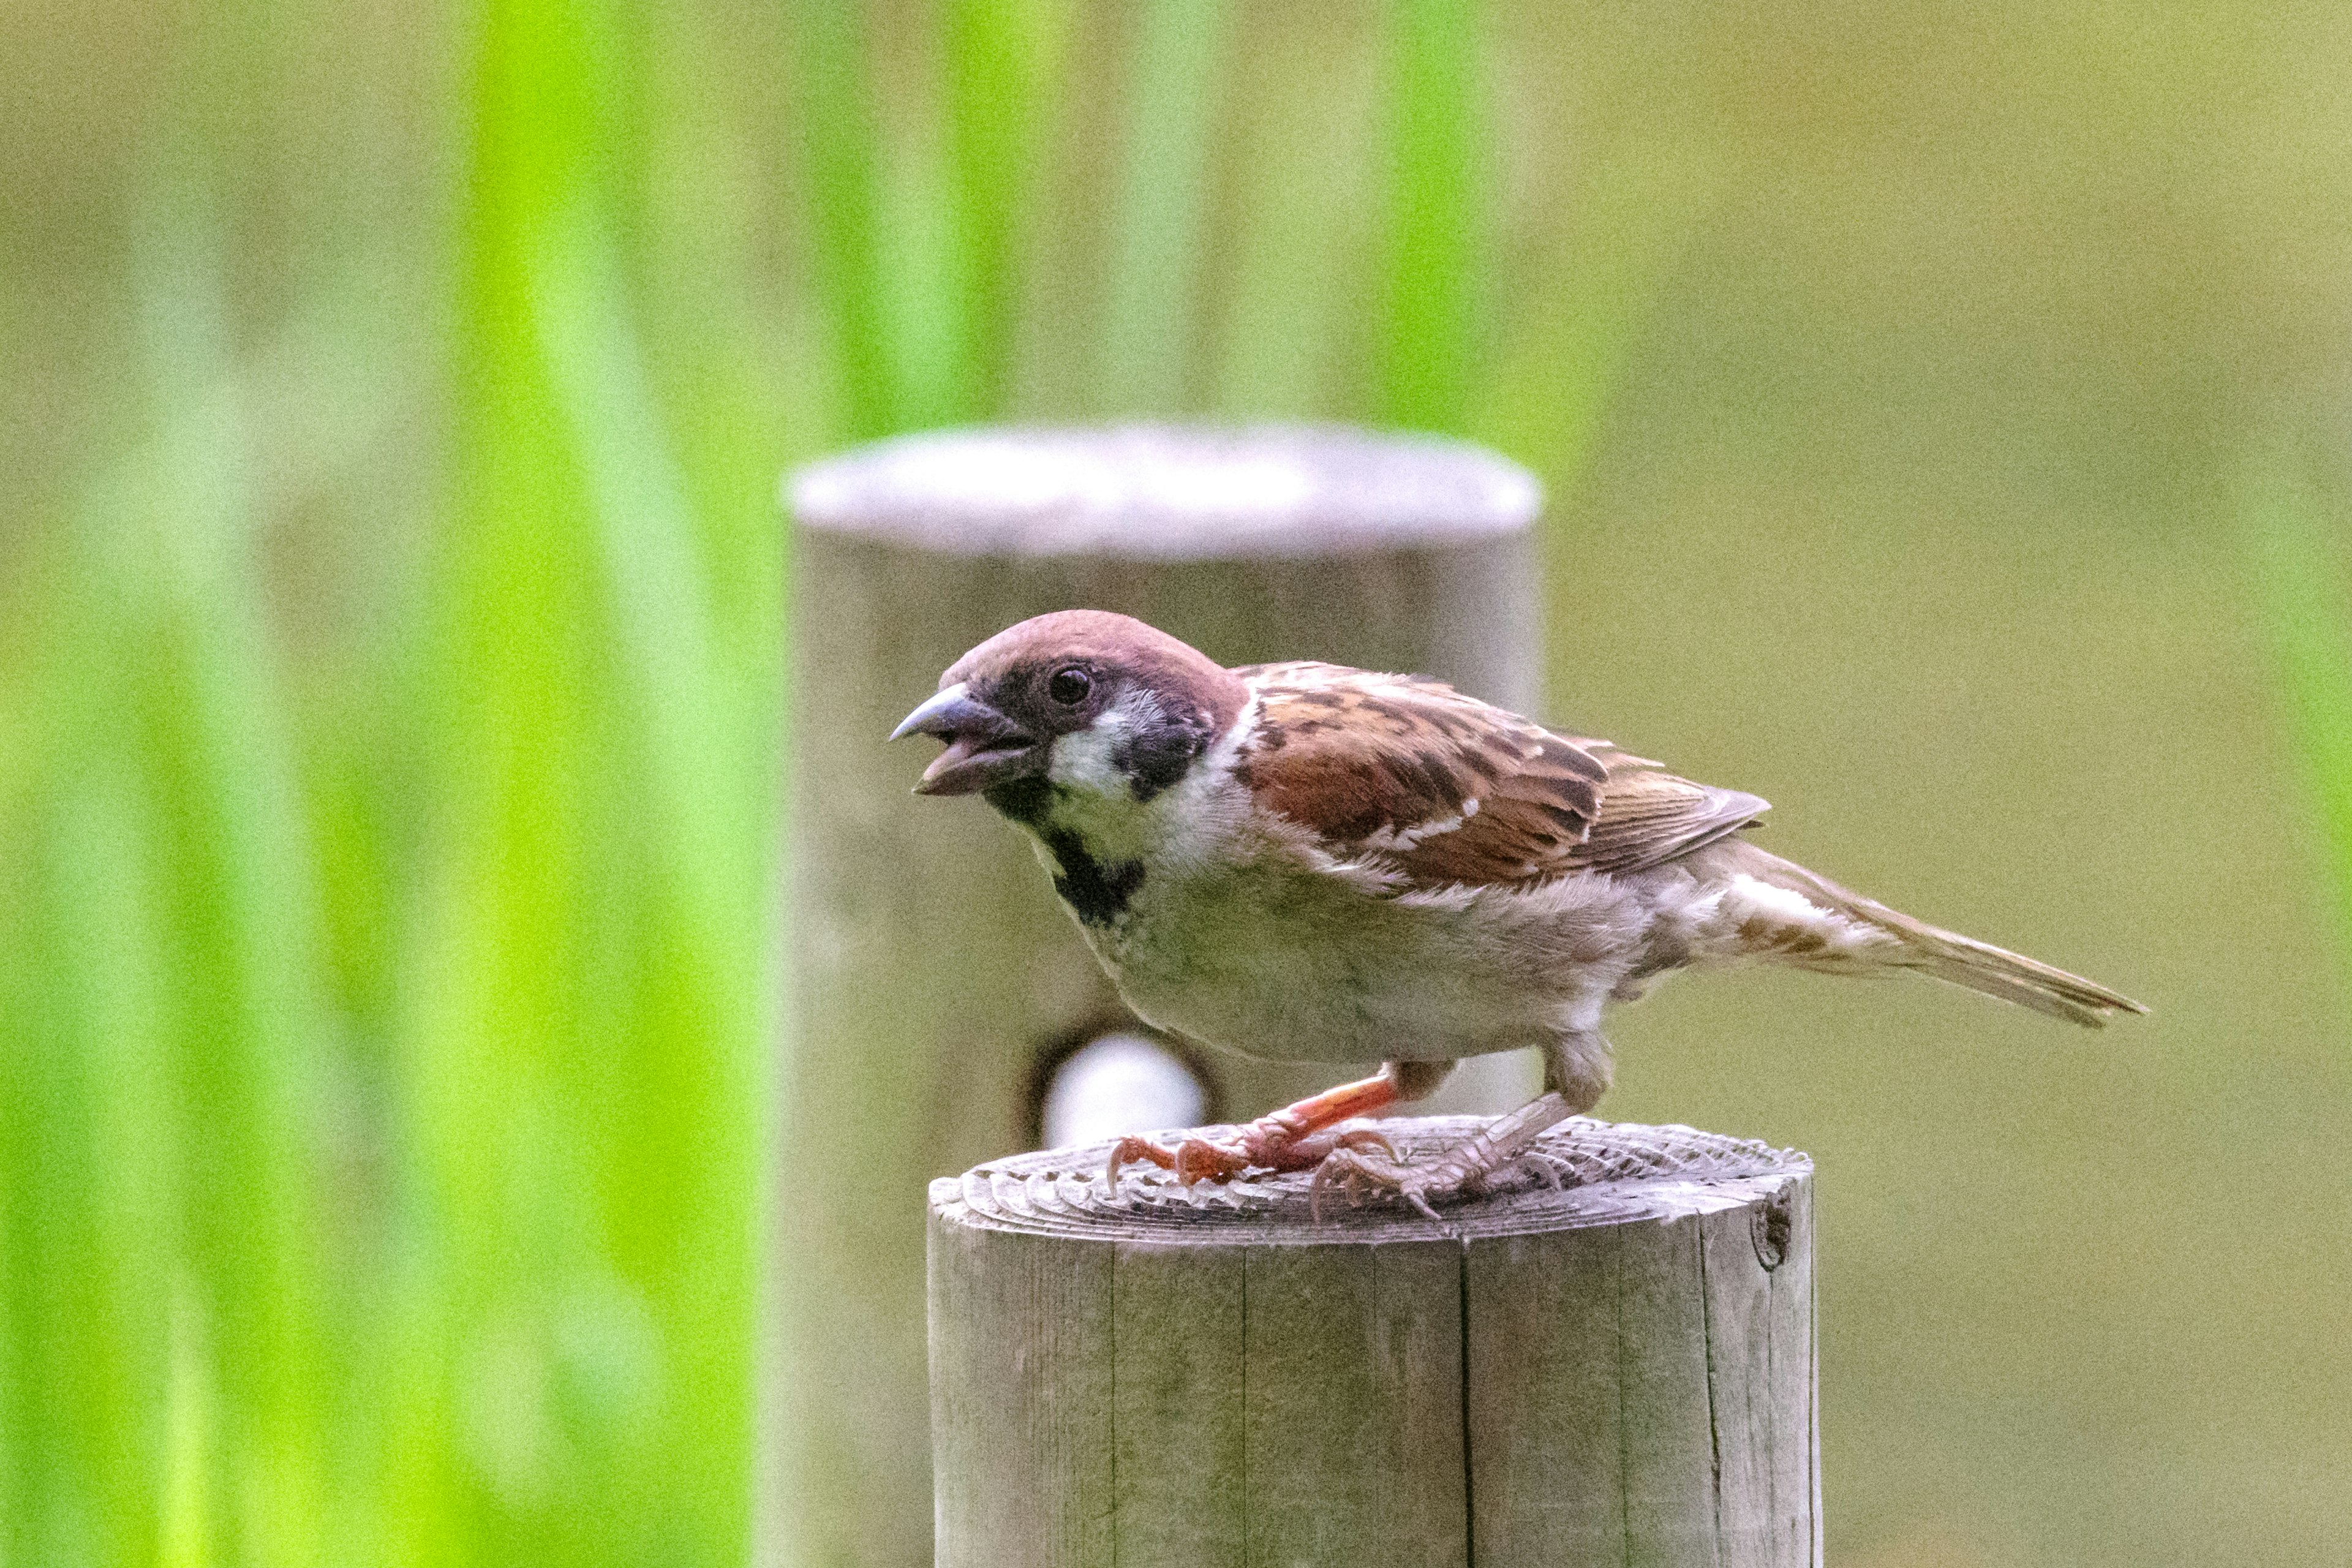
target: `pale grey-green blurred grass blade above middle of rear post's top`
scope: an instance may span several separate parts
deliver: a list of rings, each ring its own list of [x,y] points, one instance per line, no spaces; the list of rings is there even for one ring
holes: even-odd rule
[[[1098,414],[1181,414],[1195,353],[1228,0],[1141,0],[1101,336]]]

